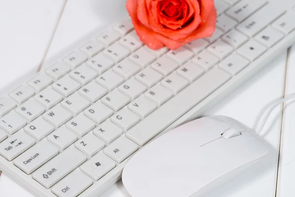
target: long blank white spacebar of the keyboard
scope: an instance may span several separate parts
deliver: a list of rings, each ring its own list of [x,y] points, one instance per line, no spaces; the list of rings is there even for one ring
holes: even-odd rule
[[[231,76],[228,73],[218,67],[212,68],[142,122],[131,128],[126,136],[138,145],[143,146],[230,78]]]

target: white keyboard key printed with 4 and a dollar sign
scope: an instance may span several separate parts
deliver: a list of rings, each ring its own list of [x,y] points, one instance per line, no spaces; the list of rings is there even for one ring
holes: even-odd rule
[[[80,88],[80,84],[69,76],[64,76],[52,85],[64,97],[68,97]]]

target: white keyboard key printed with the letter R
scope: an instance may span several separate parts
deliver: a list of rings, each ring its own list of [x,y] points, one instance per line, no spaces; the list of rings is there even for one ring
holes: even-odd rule
[[[107,90],[98,85],[95,81],[91,81],[89,84],[79,90],[79,94],[89,101],[95,102],[96,100],[106,95]]]

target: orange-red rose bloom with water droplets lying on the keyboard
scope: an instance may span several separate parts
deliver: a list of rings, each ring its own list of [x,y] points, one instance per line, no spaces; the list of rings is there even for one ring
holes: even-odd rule
[[[214,0],[127,0],[134,29],[151,49],[178,47],[215,31]]]

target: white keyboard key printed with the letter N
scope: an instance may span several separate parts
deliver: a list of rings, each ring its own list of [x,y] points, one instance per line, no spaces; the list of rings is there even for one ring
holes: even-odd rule
[[[175,95],[188,86],[188,81],[177,73],[172,73],[161,81],[162,86],[172,91]]]

